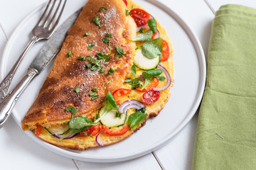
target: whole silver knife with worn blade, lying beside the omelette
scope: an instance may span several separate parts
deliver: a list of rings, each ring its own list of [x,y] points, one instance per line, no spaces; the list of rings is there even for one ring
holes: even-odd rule
[[[63,41],[65,40],[66,33],[71,26],[75,23],[78,18],[82,8],[73,13],[61,26],[58,30],[53,33],[53,36],[46,42],[45,45],[41,48],[37,57],[31,62],[31,65],[28,67],[28,72],[18,83],[16,88],[11,91],[4,100],[0,103],[0,128],[3,127],[6,120],[11,115],[11,111],[14,108],[16,101],[19,96],[21,96],[26,86],[33,80],[34,77],[38,76],[43,69],[45,69],[48,64],[55,58],[55,56],[60,51]]]

